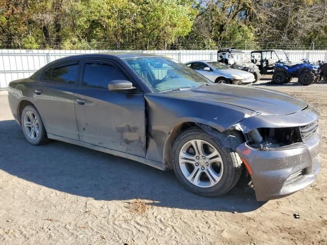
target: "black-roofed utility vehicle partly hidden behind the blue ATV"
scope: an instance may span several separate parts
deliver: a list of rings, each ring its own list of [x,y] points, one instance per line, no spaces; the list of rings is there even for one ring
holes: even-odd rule
[[[276,63],[291,64],[284,50],[255,50],[251,61],[259,67],[261,75],[272,75]]]

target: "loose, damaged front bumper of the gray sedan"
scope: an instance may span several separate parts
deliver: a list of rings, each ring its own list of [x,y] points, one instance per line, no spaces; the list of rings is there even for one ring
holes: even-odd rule
[[[306,143],[260,151],[247,143],[237,153],[252,170],[252,181],[258,201],[282,198],[314,182],[320,169],[321,134],[317,130]]]

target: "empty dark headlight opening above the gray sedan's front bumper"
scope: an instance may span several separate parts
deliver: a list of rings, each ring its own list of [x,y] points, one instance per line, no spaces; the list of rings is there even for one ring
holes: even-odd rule
[[[300,142],[298,128],[259,128],[247,133],[245,138],[249,146],[263,151]]]

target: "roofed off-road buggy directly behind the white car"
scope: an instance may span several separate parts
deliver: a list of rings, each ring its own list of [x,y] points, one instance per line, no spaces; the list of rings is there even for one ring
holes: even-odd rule
[[[230,68],[251,72],[255,78],[253,83],[260,80],[261,74],[258,66],[253,64],[242,50],[221,48],[217,52],[217,57],[217,61],[229,66]]]

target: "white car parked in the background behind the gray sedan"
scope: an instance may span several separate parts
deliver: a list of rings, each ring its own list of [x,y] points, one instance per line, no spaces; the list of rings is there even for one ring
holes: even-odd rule
[[[232,69],[218,61],[191,61],[185,63],[214,83],[250,85],[255,81],[250,72]]]

